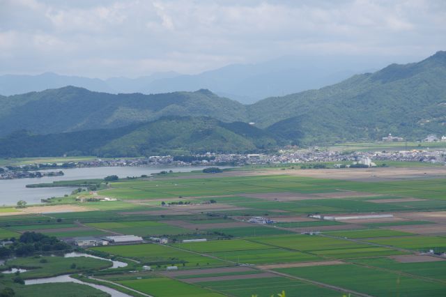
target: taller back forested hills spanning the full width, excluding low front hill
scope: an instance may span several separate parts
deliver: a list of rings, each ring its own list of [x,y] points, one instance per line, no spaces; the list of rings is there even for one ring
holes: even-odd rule
[[[0,137],[117,128],[162,116],[209,116],[254,122],[293,144],[406,139],[446,134],[446,52],[418,63],[392,64],[318,90],[266,98],[253,105],[211,91],[108,94],[68,86],[0,96]]]

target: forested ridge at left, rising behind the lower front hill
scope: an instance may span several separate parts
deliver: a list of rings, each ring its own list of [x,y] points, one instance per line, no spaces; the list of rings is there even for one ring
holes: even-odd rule
[[[38,134],[116,128],[162,116],[247,118],[245,106],[208,90],[154,95],[109,94],[74,86],[0,97],[0,136],[17,130]]]

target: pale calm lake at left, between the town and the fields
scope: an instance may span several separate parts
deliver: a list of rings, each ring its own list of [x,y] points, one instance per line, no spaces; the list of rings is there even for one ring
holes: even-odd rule
[[[0,180],[0,205],[15,205],[17,201],[24,200],[28,204],[40,204],[40,199],[62,197],[70,194],[74,188],[26,188],[31,183],[52,183],[53,181],[73,181],[77,179],[105,178],[117,175],[120,178],[127,176],[150,176],[153,173],[172,170],[173,172],[191,172],[206,167],[88,167],[70,169],[48,169],[45,171],[62,170],[64,176],[44,176],[41,178],[18,178]]]

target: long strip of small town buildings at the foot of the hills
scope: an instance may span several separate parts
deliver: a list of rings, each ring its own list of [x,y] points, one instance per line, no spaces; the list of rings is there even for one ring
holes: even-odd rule
[[[274,164],[305,164],[321,162],[339,162],[334,165],[318,164],[317,168],[345,168],[351,165],[376,166],[374,161],[400,162],[429,162],[446,165],[444,149],[426,150],[412,149],[404,151],[334,151],[322,149],[318,146],[308,149],[284,149],[277,153],[247,153],[247,154],[219,154],[206,153],[192,156],[150,156],[146,158],[113,158],[52,163],[22,165],[17,167],[0,167],[0,179],[40,178],[43,176],[62,176],[63,172],[38,172],[38,169],[51,168],[84,168],[84,167],[143,167],[143,166],[244,166],[244,165],[274,165]],[[348,164],[346,164],[348,163]],[[353,166],[354,167],[354,166]],[[361,166],[358,166],[361,167]]]

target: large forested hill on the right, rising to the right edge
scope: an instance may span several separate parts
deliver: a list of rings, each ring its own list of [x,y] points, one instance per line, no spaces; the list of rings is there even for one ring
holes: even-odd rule
[[[267,98],[248,109],[259,127],[303,143],[446,134],[446,52],[392,64],[322,89]]]

